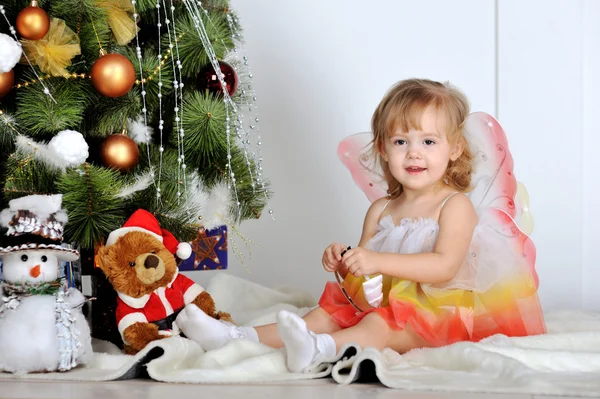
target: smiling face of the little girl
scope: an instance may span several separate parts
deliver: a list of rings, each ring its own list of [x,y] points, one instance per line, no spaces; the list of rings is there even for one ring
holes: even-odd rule
[[[421,130],[398,128],[385,139],[383,159],[404,190],[422,191],[439,185],[448,162],[460,156],[462,149],[448,141],[443,120],[430,107],[423,112]]]

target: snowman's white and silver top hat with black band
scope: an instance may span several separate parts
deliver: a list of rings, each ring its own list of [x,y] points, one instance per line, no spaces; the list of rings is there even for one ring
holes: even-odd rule
[[[0,213],[0,224],[8,228],[0,256],[11,252],[43,250],[60,261],[73,261],[79,252],[63,247],[67,214],[61,209],[62,195],[28,195],[14,199]]]

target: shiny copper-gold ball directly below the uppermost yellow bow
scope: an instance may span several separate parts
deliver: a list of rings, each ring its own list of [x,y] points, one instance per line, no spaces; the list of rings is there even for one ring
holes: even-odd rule
[[[121,54],[102,55],[94,63],[91,76],[96,90],[106,97],[121,97],[135,83],[133,64]]]

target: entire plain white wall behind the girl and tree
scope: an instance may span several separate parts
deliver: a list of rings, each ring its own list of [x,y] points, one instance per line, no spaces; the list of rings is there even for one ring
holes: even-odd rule
[[[262,246],[251,247],[250,274],[230,250],[229,271],[195,272],[195,279],[232,273],[318,297],[331,278],[320,264],[323,249],[332,241],[356,245],[369,206],[336,146],[369,130],[394,82],[427,77],[450,80],[473,110],[504,126],[515,174],[531,197],[544,307],[600,306],[594,296],[600,272],[593,267],[600,261],[593,238],[600,232],[593,206],[600,182],[593,117],[600,106],[598,2],[231,0],[231,6],[253,69],[275,220],[265,212],[241,226]],[[239,238],[237,244],[243,247]]]

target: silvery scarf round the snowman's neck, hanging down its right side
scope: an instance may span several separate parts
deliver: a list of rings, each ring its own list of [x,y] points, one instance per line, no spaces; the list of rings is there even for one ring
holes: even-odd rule
[[[75,319],[71,314],[71,305],[66,301],[67,294],[61,279],[40,284],[10,284],[0,282],[2,302],[0,302],[0,319],[7,311],[17,309],[24,297],[33,295],[52,295],[55,297],[56,335],[58,337],[58,370],[66,371],[77,366],[77,350],[81,347],[79,331],[75,328]]]

